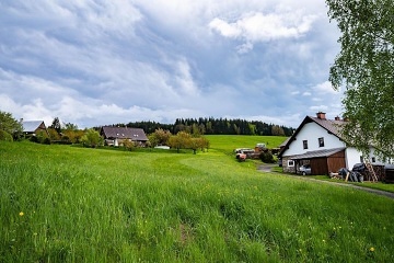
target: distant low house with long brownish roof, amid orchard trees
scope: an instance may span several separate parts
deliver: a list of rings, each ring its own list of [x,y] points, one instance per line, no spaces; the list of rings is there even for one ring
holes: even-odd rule
[[[100,130],[108,146],[119,146],[125,140],[134,141],[139,146],[146,146],[148,137],[141,128],[104,126]]]

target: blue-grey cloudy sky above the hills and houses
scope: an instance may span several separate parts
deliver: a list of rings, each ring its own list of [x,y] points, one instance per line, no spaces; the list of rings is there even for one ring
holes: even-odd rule
[[[341,113],[323,0],[0,1],[0,111],[79,127]]]

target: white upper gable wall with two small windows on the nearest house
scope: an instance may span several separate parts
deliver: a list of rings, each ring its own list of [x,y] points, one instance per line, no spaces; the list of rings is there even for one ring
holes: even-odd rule
[[[321,137],[324,138],[324,147],[318,146],[318,138]],[[297,139],[291,141],[289,145],[286,156],[296,156],[305,153],[306,151],[346,147],[344,141],[339,140],[339,138],[335,135],[328,134],[326,129],[316,123],[305,124],[296,138]],[[303,140],[308,140],[308,149],[303,149]]]

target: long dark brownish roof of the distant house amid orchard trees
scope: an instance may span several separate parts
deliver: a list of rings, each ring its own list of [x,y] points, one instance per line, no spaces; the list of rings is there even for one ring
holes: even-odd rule
[[[128,128],[128,127],[102,127],[101,134],[106,139],[131,139],[147,141],[148,137],[141,128]]]

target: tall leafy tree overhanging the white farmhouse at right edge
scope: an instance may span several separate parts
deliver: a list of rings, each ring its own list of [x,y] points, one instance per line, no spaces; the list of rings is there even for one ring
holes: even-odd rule
[[[343,136],[364,153],[373,145],[394,156],[394,1],[326,0],[341,50],[329,70],[334,89],[345,84]]]

